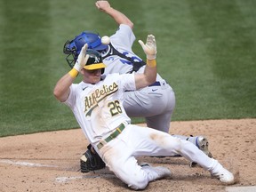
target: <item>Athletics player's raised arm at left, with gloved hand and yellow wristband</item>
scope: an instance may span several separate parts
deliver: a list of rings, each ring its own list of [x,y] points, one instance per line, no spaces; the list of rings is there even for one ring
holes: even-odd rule
[[[53,94],[57,100],[60,100],[61,102],[68,100],[68,95],[70,92],[69,87],[73,83],[80,70],[84,68],[84,65],[89,58],[89,55],[86,54],[87,47],[88,45],[84,44],[80,54],[78,55],[74,68],[72,68],[68,74],[62,76],[55,85]]]

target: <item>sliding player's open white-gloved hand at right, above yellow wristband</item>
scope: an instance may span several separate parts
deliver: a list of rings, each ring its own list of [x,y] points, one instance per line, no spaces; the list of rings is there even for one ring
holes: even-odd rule
[[[143,51],[147,55],[148,60],[156,60],[156,39],[153,35],[148,35],[147,43],[144,44],[141,40],[139,43],[143,49]]]

